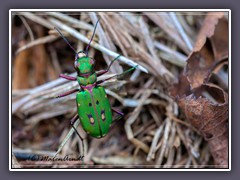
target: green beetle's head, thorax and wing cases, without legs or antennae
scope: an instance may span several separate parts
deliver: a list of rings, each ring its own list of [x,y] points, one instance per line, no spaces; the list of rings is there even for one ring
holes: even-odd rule
[[[94,60],[80,53],[75,60],[81,90],[76,95],[78,116],[83,129],[91,136],[105,136],[112,124],[112,110],[103,87],[97,85]]]

